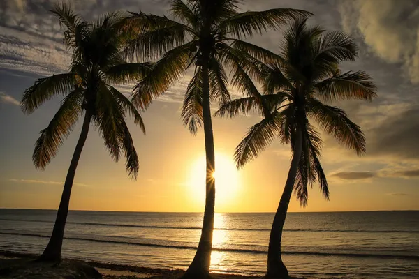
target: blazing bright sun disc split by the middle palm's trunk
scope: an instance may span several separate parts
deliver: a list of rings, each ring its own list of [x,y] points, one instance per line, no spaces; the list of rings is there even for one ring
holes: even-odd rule
[[[212,178],[215,179],[216,204],[223,205],[237,196],[240,176],[233,158],[223,153],[215,154],[215,169]],[[191,165],[188,185],[196,199],[205,201],[205,156]]]

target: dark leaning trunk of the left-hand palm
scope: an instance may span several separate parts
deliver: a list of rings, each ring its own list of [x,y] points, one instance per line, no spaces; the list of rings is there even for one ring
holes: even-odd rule
[[[66,227],[66,220],[68,214],[68,204],[70,204],[71,188],[73,186],[75,169],[77,169],[80,155],[82,154],[84,143],[89,133],[91,113],[86,110],[84,115],[82,132],[77,145],[75,146],[73,158],[71,159],[70,167],[68,167],[66,182],[64,183],[64,190],[61,195],[61,202],[57,211],[57,218],[55,219],[54,229],[47,247],[42,255],[38,258],[40,261],[47,262],[60,262],[61,261],[61,248],[63,246],[64,229]]]

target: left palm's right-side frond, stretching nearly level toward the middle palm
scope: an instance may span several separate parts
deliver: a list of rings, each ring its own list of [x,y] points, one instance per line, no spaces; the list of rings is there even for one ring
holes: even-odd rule
[[[138,82],[152,71],[153,63],[120,63],[107,70],[105,80],[107,82],[124,84]]]

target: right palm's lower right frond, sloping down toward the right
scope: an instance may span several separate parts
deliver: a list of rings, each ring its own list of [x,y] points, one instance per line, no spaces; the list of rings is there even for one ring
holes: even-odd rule
[[[313,117],[326,133],[353,149],[358,155],[365,153],[365,136],[360,126],[353,123],[344,110],[324,105],[314,98],[307,101],[307,115]]]

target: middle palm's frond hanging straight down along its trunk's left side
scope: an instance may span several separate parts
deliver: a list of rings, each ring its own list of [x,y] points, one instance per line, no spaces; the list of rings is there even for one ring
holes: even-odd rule
[[[197,67],[186,89],[181,117],[189,132],[196,135],[198,128],[203,125],[203,77],[200,67]]]

